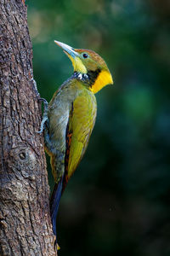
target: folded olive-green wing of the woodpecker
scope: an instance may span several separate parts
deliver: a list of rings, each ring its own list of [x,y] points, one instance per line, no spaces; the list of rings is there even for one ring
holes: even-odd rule
[[[74,102],[66,129],[64,187],[76,170],[88,146],[96,118],[96,99],[88,90],[83,91]]]

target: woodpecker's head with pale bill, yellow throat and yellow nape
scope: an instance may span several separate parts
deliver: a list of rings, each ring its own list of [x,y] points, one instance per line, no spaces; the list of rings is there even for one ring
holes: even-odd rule
[[[79,78],[87,78],[89,90],[94,93],[107,84],[113,84],[113,79],[105,61],[93,50],[73,49],[67,44],[54,41],[71,59],[74,72],[80,74]]]

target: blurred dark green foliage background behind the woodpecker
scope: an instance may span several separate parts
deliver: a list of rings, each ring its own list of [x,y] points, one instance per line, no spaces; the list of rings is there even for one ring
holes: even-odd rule
[[[94,49],[115,81],[96,95],[94,132],[60,203],[59,255],[170,255],[170,2],[27,5],[42,97],[72,73],[54,39]]]

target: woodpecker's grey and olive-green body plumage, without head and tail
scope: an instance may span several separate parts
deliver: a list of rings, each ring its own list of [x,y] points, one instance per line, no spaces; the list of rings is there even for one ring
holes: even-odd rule
[[[65,178],[67,175],[71,177],[82,159],[94,128],[96,110],[94,93],[74,77],[66,81],[49,102],[48,134],[51,144],[46,149],[51,156],[55,183],[63,174]],[[70,141],[66,145],[68,135]],[[69,152],[66,152],[67,147]],[[65,158],[68,159],[68,166],[65,166]]]

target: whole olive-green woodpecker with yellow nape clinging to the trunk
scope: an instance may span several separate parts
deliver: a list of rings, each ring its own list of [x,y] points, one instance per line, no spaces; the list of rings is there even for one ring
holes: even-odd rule
[[[94,129],[97,102],[94,96],[107,84],[113,84],[111,72],[100,55],[91,49],[74,49],[54,41],[71,59],[73,73],[56,90],[51,101],[45,99],[41,130],[45,150],[50,156],[54,191],[50,214],[57,244],[56,218],[60,197],[82,160]]]

